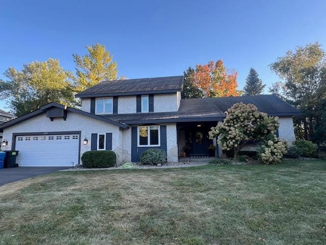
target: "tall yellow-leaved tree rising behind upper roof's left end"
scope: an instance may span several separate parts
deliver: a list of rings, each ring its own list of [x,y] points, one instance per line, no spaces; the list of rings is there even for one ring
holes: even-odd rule
[[[116,80],[118,75],[117,63],[104,45],[97,43],[86,48],[87,55],[72,55],[77,66],[77,91],[83,91],[103,80]]]

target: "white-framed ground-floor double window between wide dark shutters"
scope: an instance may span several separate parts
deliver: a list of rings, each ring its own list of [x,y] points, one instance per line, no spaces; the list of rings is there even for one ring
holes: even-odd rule
[[[138,147],[160,146],[159,126],[138,127]]]

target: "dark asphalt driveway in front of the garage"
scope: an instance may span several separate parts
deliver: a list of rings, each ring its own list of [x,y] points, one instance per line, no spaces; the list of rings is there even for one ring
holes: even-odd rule
[[[69,167],[12,167],[0,169],[0,185],[38,175],[56,172]]]

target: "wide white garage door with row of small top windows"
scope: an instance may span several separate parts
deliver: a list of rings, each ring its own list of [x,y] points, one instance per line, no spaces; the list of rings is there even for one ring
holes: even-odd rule
[[[78,164],[79,135],[16,136],[19,166],[72,166]]]

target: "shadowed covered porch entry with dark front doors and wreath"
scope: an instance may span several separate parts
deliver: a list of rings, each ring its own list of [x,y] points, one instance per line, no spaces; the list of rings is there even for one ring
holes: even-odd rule
[[[215,157],[218,145],[208,132],[217,121],[179,122],[177,124],[179,157]]]

